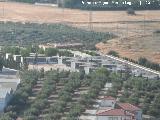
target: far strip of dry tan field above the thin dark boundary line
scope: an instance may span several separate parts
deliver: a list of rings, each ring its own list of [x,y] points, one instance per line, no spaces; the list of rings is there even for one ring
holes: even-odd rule
[[[4,12],[3,12],[4,11]],[[136,16],[128,16],[125,11],[95,11],[93,22],[118,22],[160,20],[160,11],[138,11]],[[88,22],[89,12],[59,9],[22,3],[0,2],[0,19],[6,21],[30,21],[30,22]]]

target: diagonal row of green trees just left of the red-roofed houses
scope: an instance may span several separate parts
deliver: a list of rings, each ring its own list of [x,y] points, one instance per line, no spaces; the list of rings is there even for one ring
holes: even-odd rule
[[[86,109],[91,109],[99,92],[107,82],[110,82],[109,72],[103,68],[85,76],[82,84],[88,87],[87,92],[79,96],[77,103],[72,104],[66,119],[75,120]]]

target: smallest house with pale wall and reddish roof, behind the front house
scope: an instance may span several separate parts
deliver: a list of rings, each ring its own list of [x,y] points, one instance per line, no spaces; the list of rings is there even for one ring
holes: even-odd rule
[[[101,107],[111,107],[114,108],[116,104],[116,99],[111,96],[104,96],[100,103]]]

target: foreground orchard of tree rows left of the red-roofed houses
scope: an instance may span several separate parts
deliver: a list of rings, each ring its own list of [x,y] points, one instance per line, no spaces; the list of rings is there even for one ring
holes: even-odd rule
[[[80,73],[53,70],[26,71],[21,74],[22,82],[1,119],[77,118],[96,98],[99,90],[107,82],[108,75],[109,73],[104,69],[90,75],[84,75],[83,71]],[[34,94],[39,81],[43,82],[37,94]],[[76,91],[79,93],[86,91],[86,94],[75,97]],[[73,100],[74,98],[76,99]]]

